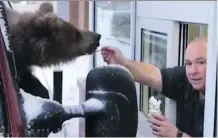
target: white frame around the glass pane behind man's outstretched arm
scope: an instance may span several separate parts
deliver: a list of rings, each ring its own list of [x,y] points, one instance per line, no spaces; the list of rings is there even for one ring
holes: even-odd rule
[[[161,24],[161,25],[160,25]],[[178,50],[179,50],[179,23],[167,20],[151,19],[151,18],[136,18],[136,61],[141,61],[141,29],[148,29],[167,33],[167,67],[178,65]],[[136,83],[138,107],[140,100],[140,84]],[[176,104],[173,100],[165,98],[165,116],[176,123]],[[153,136],[146,131],[149,129],[147,118],[139,111],[139,133],[143,136]],[[151,132],[151,131],[150,131]]]

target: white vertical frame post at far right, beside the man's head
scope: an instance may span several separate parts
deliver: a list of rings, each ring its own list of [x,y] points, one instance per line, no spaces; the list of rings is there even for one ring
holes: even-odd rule
[[[214,133],[216,75],[218,62],[217,45],[217,2],[213,2],[208,23],[207,76],[204,110],[204,137],[212,137]]]

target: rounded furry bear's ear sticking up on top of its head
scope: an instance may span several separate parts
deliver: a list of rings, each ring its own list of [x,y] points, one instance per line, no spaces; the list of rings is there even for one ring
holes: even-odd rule
[[[52,3],[49,2],[43,2],[38,9],[38,13],[40,15],[45,15],[47,13],[53,13],[54,12],[54,7]]]

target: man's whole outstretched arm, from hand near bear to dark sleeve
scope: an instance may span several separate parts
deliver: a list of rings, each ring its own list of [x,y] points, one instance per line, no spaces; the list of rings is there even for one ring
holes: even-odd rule
[[[181,69],[160,69],[149,63],[128,60],[123,56],[119,49],[114,47],[103,47],[101,49],[101,54],[106,63],[121,64],[125,66],[132,73],[135,81],[147,85],[159,92],[169,91],[169,93],[175,93],[177,88],[174,84],[175,82],[177,84],[180,83],[181,77],[183,77],[181,76]],[[184,70],[182,70],[182,74],[185,74]]]

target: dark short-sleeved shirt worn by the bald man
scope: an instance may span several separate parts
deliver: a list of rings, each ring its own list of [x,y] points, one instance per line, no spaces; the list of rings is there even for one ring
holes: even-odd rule
[[[204,100],[188,82],[185,67],[161,69],[162,93],[177,102],[177,127],[192,137],[203,137]]]

